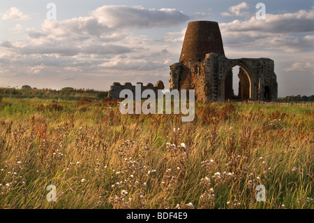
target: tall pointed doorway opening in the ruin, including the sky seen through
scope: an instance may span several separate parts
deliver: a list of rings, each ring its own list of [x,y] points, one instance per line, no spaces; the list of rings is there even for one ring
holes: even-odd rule
[[[225,101],[252,99],[252,78],[250,69],[241,62],[236,62],[225,71],[223,80],[223,93]],[[252,76],[252,75],[251,75]],[[236,89],[237,88],[237,89]]]

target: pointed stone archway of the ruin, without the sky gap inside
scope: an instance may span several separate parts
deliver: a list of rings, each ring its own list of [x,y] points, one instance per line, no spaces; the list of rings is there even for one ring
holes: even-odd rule
[[[256,78],[255,78],[255,73],[253,69],[251,68],[250,65],[244,62],[244,60],[229,59],[229,62],[225,66],[225,71],[223,73],[223,80],[220,82],[220,85],[222,85],[221,93],[223,94],[222,101],[225,101],[226,99],[230,99],[230,91],[232,91],[232,86],[230,89],[230,80],[228,79],[230,78],[230,75],[232,75],[232,73],[230,74],[230,72],[232,72],[232,68],[234,66],[239,66],[241,70],[244,72],[242,73],[243,74],[242,86],[241,86],[242,92],[240,93],[241,99],[250,99],[253,101],[256,100],[256,96],[257,96],[257,89],[255,87]],[[246,78],[248,79],[248,82]],[[240,82],[241,82],[241,79],[240,79]]]

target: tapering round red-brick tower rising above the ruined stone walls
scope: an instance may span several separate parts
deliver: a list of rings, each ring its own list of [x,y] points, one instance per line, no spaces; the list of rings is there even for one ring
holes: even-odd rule
[[[200,62],[210,52],[225,55],[218,22],[189,22],[179,61],[184,64]]]

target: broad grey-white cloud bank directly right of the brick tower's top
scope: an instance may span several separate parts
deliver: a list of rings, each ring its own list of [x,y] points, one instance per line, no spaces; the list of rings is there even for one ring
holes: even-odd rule
[[[296,13],[267,14],[266,20],[251,17],[250,20],[233,20],[219,26],[223,42],[228,47],[298,52],[313,50],[313,20],[314,10],[299,10]]]

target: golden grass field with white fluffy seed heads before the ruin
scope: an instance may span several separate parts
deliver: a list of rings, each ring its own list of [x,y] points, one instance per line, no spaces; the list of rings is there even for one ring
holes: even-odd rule
[[[311,104],[198,103],[181,122],[110,100],[0,102],[0,208],[313,208],[313,159]]]

